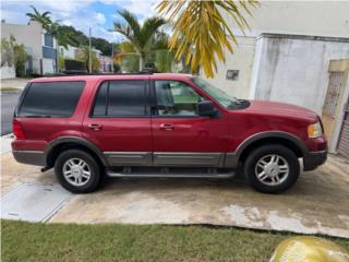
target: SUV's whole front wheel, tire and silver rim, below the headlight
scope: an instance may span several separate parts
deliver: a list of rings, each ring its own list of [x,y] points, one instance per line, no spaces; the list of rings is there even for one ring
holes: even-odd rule
[[[243,171],[254,189],[277,193],[289,189],[297,181],[300,166],[291,150],[269,144],[257,147],[248,156]]]

